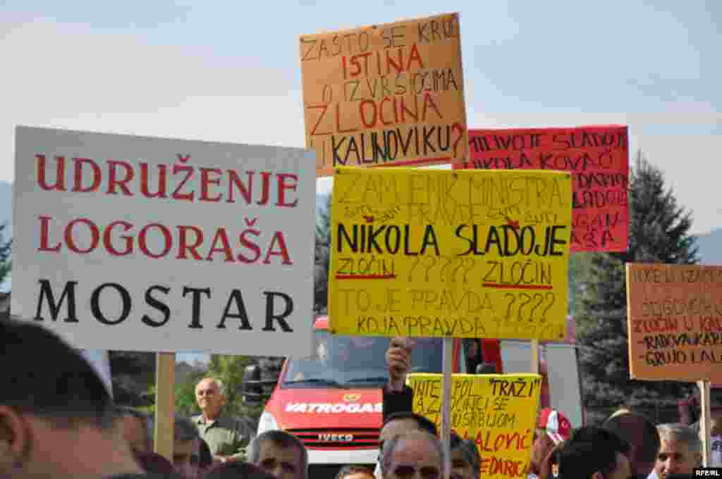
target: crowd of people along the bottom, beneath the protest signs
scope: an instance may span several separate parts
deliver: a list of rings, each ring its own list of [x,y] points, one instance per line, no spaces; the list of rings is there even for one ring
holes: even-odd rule
[[[412,412],[406,386],[412,343],[393,338],[386,353],[383,426],[375,470],[342,467],[336,479],[480,479],[474,441],[451,436],[446,456],[434,423]],[[152,419],[119,408],[92,366],[51,331],[31,322],[0,322],[0,479],[178,478],[310,479],[303,441],[285,431],[255,436],[224,416],[223,384],[196,386],[201,414],[175,418],[173,461],[153,452]],[[713,429],[722,417],[713,415]],[[573,429],[564,413],[539,413],[528,479],[674,479],[702,463],[698,431],[655,426],[629,408],[602,426]]]

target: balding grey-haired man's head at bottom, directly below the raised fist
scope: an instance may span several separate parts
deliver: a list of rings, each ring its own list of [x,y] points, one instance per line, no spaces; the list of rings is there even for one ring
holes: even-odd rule
[[[394,437],[381,449],[384,479],[440,479],[445,464],[441,441],[427,432]]]

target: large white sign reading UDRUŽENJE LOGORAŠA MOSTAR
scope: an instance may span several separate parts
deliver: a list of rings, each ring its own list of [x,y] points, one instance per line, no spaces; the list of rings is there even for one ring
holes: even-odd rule
[[[12,313],[77,348],[308,355],[312,151],[18,127]]]

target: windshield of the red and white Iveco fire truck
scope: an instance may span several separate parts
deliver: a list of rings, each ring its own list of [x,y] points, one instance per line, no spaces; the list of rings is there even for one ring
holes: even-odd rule
[[[382,387],[388,381],[386,350],[390,338],[331,335],[316,330],[315,354],[310,359],[289,358],[282,387]],[[412,372],[440,373],[441,338],[416,338]]]

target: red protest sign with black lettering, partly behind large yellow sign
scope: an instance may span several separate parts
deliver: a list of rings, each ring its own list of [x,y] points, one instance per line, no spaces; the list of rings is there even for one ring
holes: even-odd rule
[[[469,130],[469,146],[471,159],[453,164],[455,170],[521,168],[571,172],[571,250],[627,250],[627,126],[474,129]],[[530,217],[526,221],[538,219]]]

